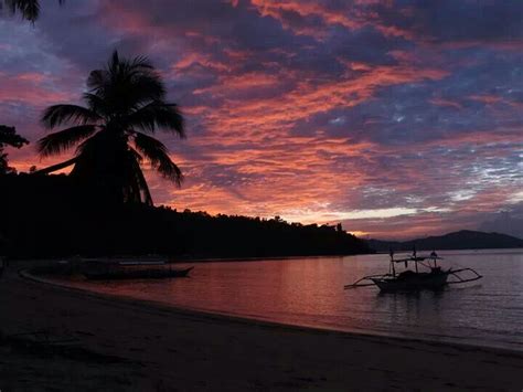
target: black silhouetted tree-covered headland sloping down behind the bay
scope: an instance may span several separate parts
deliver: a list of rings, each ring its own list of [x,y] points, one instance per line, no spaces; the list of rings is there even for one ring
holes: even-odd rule
[[[366,253],[334,226],[93,201],[72,177],[0,179],[0,253],[12,257],[162,254],[255,257]]]

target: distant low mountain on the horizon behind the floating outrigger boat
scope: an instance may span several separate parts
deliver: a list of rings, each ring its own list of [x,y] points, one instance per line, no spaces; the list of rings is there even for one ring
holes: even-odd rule
[[[405,242],[369,240],[369,246],[376,252],[433,250],[488,250],[523,247],[523,240],[500,233],[483,233],[470,230],[448,233],[439,236],[429,236]]]

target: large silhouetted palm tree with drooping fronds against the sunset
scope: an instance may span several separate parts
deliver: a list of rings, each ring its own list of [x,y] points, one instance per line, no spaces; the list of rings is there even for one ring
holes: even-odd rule
[[[39,140],[42,157],[60,155],[77,145],[74,158],[36,173],[74,165],[71,177],[115,202],[152,205],[140,168],[147,159],[164,178],[181,184],[182,173],[167,147],[150,134],[157,129],[185,137],[183,117],[175,104],[166,102],[166,87],[146,57],[120,59],[114,52],[103,70],[87,78],[86,106],[54,105],[44,110],[47,129],[68,128]]]

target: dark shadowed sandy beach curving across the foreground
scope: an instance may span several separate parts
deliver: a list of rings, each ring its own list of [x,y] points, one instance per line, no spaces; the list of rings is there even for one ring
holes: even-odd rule
[[[523,388],[523,353],[286,327],[0,279],[0,390]]]

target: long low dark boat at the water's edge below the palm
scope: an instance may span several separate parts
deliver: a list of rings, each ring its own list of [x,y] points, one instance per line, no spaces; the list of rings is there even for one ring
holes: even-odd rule
[[[172,268],[164,262],[85,262],[82,274],[89,280],[166,279],[186,277],[194,267]]]

